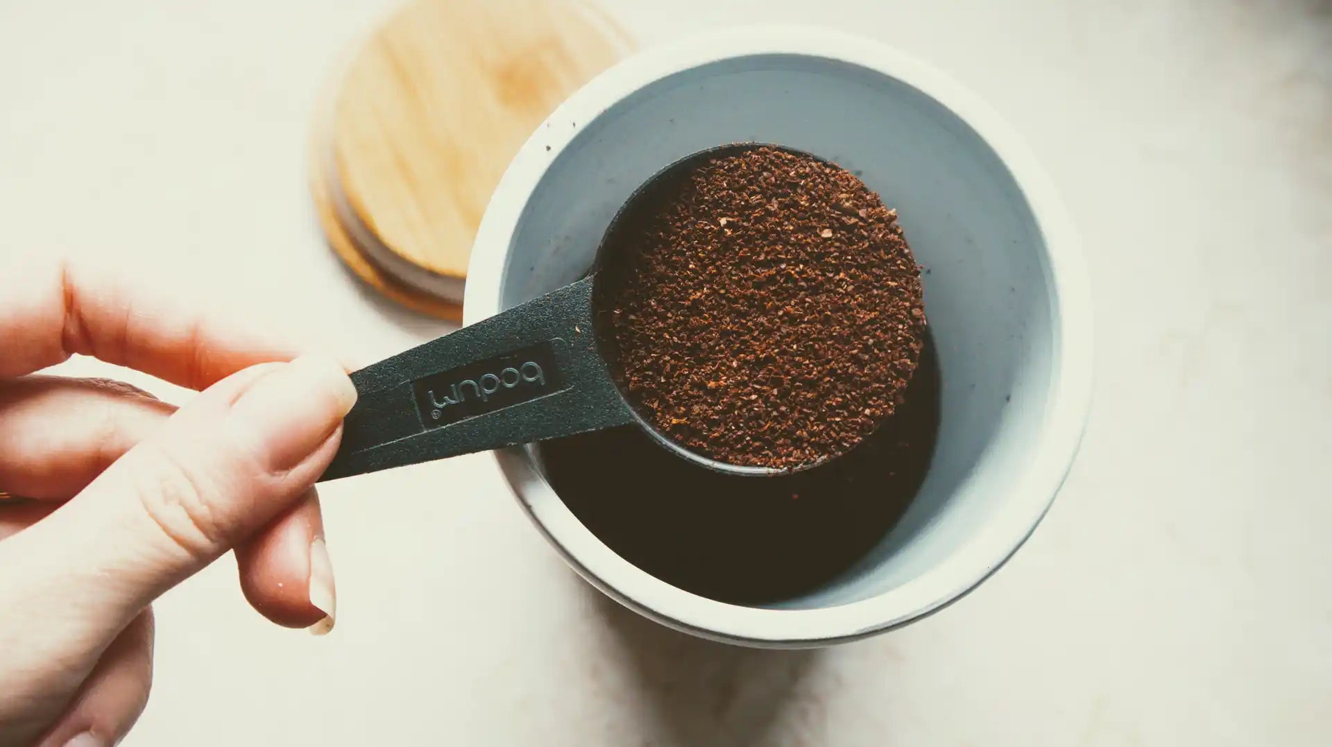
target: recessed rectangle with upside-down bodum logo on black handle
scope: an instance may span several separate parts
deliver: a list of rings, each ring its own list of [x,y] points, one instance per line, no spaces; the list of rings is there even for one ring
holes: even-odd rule
[[[521,405],[563,389],[554,344],[542,342],[413,382],[426,427]]]

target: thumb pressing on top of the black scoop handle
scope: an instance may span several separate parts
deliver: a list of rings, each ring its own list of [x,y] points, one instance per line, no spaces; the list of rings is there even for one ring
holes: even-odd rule
[[[47,598],[71,591],[81,619],[120,630],[300,499],[333,458],[354,401],[330,360],[245,369],[11,542],[28,543]]]

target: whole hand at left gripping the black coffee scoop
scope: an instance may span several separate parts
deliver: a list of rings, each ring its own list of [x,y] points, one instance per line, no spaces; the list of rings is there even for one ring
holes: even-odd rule
[[[0,268],[0,746],[120,740],[148,699],[149,603],[228,550],[261,614],[333,626],[312,485],[356,390],[149,296]],[[176,410],[33,374],[76,353],[202,391]]]

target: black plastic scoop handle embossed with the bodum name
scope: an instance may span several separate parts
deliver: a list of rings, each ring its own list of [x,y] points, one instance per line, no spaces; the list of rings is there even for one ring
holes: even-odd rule
[[[352,374],[321,481],[633,422],[591,328],[593,278]]]

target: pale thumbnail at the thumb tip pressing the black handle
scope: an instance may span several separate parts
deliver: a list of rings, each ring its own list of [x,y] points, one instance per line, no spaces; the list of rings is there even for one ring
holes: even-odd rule
[[[230,422],[272,469],[285,470],[328,441],[354,403],[356,387],[342,366],[305,356],[256,381],[232,405]]]

